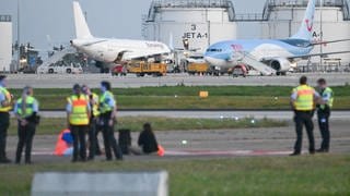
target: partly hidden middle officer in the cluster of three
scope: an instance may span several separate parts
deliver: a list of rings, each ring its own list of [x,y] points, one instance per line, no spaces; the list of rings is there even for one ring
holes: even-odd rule
[[[89,97],[89,103],[92,108],[90,124],[89,124],[89,156],[88,160],[93,160],[97,150],[100,150],[98,139],[97,139],[97,121],[100,118],[98,111],[98,96],[95,93],[92,93],[91,89],[86,86],[82,86],[83,94]],[[100,154],[101,155],[101,154]]]

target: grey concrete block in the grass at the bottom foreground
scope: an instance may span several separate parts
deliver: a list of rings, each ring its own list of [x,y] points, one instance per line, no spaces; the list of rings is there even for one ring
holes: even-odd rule
[[[167,196],[167,182],[166,171],[39,172],[34,175],[32,196]]]

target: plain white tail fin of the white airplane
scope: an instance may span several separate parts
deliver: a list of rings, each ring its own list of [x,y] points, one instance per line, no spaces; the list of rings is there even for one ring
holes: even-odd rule
[[[83,11],[78,1],[73,1],[74,25],[77,38],[92,38]]]

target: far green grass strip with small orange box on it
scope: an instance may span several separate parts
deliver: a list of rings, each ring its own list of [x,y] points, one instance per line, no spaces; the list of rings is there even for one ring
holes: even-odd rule
[[[289,109],[292,87],[141,87],[117,88],[114,94],[119,109]],[[332,87],[334,109],[350,109],[350,87]],[[200,90],[208,90],[209,97],[198,97]],[[95,90],[96,93],[98,90]],[[16,98],[21,90],[12,90]],[[63,110],[70,89],[35,89],[40,109]]]

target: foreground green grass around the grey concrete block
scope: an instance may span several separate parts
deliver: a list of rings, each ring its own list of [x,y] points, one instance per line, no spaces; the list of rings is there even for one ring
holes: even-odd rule
[[[349,155],[316,155],[0,166],[0,193],[30,195],[35,172],[43,171],[166,170],[170,195],[349,195]]]

